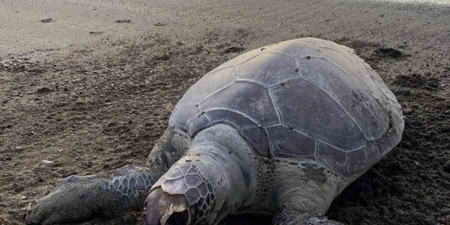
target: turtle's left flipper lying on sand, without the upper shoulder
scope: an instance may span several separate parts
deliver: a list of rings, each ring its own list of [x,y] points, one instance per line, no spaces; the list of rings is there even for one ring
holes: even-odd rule
[[[72,175],[29,209],[25,223],[74,223],[108,213],[142,210],[153,183],[148,169],[132,165],[95,175]]]

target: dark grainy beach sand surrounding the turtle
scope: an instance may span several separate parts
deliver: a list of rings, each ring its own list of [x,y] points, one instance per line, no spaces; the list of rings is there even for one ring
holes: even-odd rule
[[[327,215],[450,224],[449,2],[0,0],[0,15],[0,224],[22,224],[28,204],[65,176],[142,165],[201,76],[306,36],[355,49],[406,121],[402,142]],[[224,223],[269,224],[255,219]],[[143,213],[85,224],[124,223],[143,224]]]

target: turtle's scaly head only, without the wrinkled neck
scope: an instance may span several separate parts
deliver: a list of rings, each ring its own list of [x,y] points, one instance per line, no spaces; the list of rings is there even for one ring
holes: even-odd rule
[[[213,188],[197,167],[172,167],[150,190],[145,224],[211,224],[216,219],[213,200]]]

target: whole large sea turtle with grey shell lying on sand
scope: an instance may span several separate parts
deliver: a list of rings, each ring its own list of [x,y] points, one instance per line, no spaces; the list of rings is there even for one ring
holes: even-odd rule
[[[217,224],[234,213],[275,225],[342,224],[323,215],[403,132],[392,92],[352,49],[300,38],[242,54],[177,103],[146,167],[69,176],[26,224],[146,210],[145,224]]]

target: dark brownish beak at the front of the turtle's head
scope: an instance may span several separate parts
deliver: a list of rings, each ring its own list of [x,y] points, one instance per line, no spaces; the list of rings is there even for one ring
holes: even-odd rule
[[[183,195],[170,195],[157,188],[145,200],[145,225],[188,225],[189,206]]]

